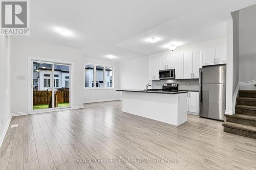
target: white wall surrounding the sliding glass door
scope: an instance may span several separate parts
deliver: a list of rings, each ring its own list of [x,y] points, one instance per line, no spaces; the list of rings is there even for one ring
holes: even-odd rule
[[[29,57],[44,58],[62,62],[74,63],[74,80],[73,80],[73,106],[83,106],[83,52],[74,48],[59,46],[55,44],[47,44],[38,41],[32,41],[22,38],[12,38],[12,54],[11,54],[11,112],[12,113],[28,113],[29,98],[28,88],[31,85],[28,82],[28,76],[32,73],[28,72]],[[32,71],[32,70],[31,70]],[[18,76],[24,76],[24,80],[17,79]]]

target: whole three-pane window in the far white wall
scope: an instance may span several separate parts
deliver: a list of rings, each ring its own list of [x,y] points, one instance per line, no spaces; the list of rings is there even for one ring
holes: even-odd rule
[[[114,68],[84,65],[84,88],[113,88]]]

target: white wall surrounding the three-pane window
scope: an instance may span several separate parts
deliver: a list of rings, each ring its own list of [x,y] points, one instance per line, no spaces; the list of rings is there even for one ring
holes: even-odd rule
[[[83,63],[98,64],[103,66],[114,66],[114,88],[112,89],[83,89],[83,103],[120,100],[121,93],[116,91],[119,88],[119,65],[114,61],[98,60],[84,54]],[[83,68],[84,70],[84,68]],[[83,75],[84,76],[84,75]],[[84,86],[84,85],[83,85]]]

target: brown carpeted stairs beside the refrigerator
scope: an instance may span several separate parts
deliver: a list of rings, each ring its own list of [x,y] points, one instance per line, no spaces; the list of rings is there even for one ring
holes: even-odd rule
[[[236,114],[225,114],[224,132],[256,139],[256,90],[239,90]]]

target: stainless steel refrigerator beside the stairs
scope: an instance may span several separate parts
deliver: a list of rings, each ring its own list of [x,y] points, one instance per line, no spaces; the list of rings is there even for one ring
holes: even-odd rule
[[[226,65],[200,68],[200,117],[224,120],[226,110]]]

